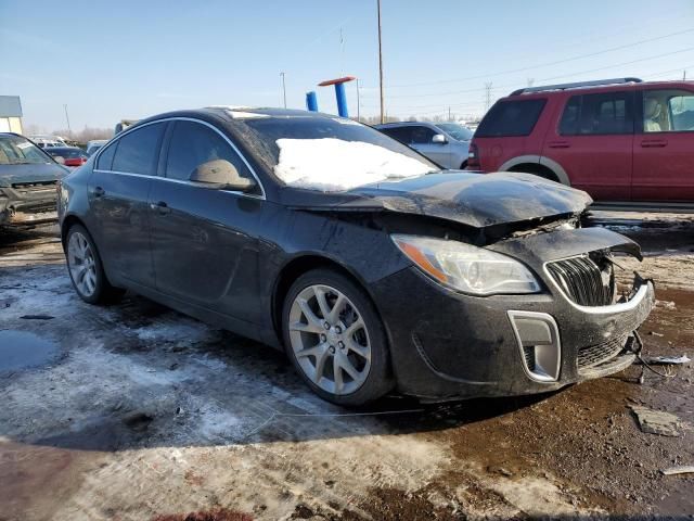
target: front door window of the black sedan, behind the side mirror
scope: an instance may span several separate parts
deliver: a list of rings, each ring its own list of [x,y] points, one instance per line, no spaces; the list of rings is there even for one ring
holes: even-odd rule
[[[239,154],[215,130],[194,122],[176,122],[166,162],[166,177],[188,180],[195,168],[214,160],[227,160],[239,175],[253,179],[253,174]]]

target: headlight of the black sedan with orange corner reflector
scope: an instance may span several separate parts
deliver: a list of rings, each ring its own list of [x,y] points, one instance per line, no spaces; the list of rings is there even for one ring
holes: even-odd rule
[[[540,284],[523,264],[500,253],[458,241],[390,236],[396,245],[429,277],[473,295],[537,293]]]

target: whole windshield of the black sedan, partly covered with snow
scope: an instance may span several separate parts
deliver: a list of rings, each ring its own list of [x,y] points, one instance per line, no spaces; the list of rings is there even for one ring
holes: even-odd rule
[[[338,117],[258,117],[245,122],[267,145],[284,183],[321,191],[422,176],[439,168],[380,131]]]

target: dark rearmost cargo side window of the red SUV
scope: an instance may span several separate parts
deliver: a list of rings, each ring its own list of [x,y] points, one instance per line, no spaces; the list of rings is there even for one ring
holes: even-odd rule
[[[545,103],[545,99],[499,101],[483,118],[475,137],[529,136]]]

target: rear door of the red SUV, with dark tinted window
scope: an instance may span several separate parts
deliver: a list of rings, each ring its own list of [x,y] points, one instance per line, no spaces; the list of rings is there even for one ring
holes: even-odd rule
[[[558,163],[573,187],[596,201],[631,199],[633,91],[573,96],[550,128],[542,155]]]

